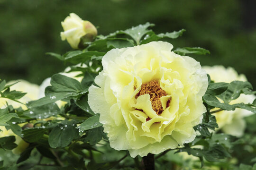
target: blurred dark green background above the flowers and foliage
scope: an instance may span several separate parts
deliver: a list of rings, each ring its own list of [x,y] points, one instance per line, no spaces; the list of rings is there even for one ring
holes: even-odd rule
[[[233,67],[256,87],[255,6],[255,0],[0,0],[0,77],[40,85],[66,68],[45,53],[71,50],[60,23],[74,12],[103,35],[146,22],[156,33],[184,28],[174,48],[206,48],[210,55],[192,57]]]

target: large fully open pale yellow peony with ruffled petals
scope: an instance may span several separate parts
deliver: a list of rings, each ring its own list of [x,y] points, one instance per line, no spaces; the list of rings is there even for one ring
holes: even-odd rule
[[[110,146],[130,155],[158,154],[194,140],[193,127],[206,111],[208,79],[201,65],[173,51],[168,42],[112,49],[89,88]]]

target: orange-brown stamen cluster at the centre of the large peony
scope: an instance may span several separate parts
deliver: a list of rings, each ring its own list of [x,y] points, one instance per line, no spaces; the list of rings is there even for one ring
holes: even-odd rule
[[[143,94],[149,94],[150,95],[150,101],[152,105],[152,109],[155,110],[156,114],[161,114],[164,109],[161,103],[161,97],[166,96],[167,93],[160,87],[157,81],[151,81],[149,83],[141,85],[141,89],[139,93],[136,95],[136,99],[138,96],[143,95]],[[169,99],[167,101],[167,107],[170,103]]]

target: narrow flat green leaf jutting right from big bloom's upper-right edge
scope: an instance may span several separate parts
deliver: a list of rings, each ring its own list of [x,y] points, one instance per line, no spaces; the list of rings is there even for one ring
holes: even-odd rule
[[[198,55],[205,55],[210,54],[210,51],[205,50],[201,47],[184,47],[184,48],[177,48],[174,50],[176,54],[179,55],[186,55],[186,54],[198,54]]]

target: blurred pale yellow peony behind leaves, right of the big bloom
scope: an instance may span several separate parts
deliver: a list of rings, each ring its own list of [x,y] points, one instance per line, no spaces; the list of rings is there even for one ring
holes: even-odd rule
[[[210,75],[211,80],[216,83],[231,83],[232,81],[236,80],[247,81],[246,76],[243,74],[238,75],[237,71],[234,68],[224,68],[223,66],[203,66],[203,69],[205,69],[206,72]],[[231,101],[230,104],[236,104],[241,102],[251,103],[254,101],[255,98],[255,95],[241,94],[238,99]],[[213,115],[216,117],[217,123],[219,125],[218,129],[221,129],[226,134],[240,137],[243,136],[244,130],[246,128],[246,122],[243,117],[252,114],[253,113],[248,110],[236,108],[236,110],[231,111],[219,111],[217,113],[214,113]]]

